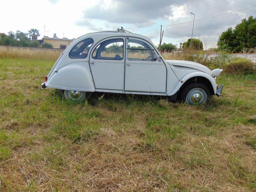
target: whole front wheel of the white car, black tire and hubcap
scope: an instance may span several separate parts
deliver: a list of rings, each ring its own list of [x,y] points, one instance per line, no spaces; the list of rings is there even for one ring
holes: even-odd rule
[[[201,83],[192,83],[184,88],[181,93],[181,100],[189,105],[204,104],[210,96],[209,89]]]

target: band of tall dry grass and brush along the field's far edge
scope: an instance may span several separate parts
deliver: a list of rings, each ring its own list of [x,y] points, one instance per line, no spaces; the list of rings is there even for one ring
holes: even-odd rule
[[[0,58],[28,58],[57,60],[63,50],[41,49],[41,48],[14,48],[0,46]],[[183,50],[182,52],[162,52],[162,56],[166,60],[187,60],[203,64],[210,69],[222,68],[224,73],[235,75],[256,74],[256,64],[247,58],[236,58],[230,54],[219,54],[214,58],[210,58],[210,52]],[[119,53],[122,56],[122,53]],[[103,52],[104,57],[114,57],[111,52]],[[140,52],[129,53],[131,58],[147,58],[149,54],[141,54]]]

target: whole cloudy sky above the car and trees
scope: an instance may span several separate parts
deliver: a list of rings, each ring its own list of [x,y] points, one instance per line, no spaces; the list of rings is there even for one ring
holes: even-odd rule
[[[77,38],[88,32],[116,30],[123,26],[144,33],[160,26],[208,18],[256,5],[256,0],[8,0],[1,2],[0,32],[27,32],[30,28],[58,38]],[[242,18],[256,16],[256,7],[195,22],[194,37],[215,46],[221,32]],[[164,26],[163,42],[179,44],[191,38],[192,24]],[[155,45],[160,28],[144,33]]]

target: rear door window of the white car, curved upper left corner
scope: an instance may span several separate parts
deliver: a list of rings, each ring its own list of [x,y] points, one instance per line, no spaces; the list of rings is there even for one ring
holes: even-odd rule
[[[109,39],[100,43],[93,51],[92,58],[104,60],[122,60],[124,54],[123,39]]]

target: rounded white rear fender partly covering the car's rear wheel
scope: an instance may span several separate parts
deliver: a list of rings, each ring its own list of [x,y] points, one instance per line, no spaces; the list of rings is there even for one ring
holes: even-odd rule
[[[55,70],[45,86],[62,90],[95,91],[89,64],[84,62],[68,64]]]

